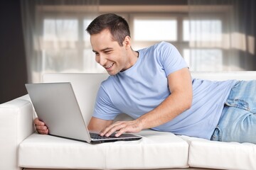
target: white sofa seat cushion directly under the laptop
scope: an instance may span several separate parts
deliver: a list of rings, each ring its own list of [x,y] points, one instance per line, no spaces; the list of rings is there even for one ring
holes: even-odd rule
[[[169,132],[143,130],[142,140],[90,145],[34,133],[18,147],[18,165],[53,169],[188,167],[188,143]]]

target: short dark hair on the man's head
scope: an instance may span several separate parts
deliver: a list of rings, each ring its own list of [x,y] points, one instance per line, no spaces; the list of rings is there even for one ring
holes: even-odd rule
[[[97,16],[86,28],[86,31],[90,35],[94,35],[105,29],[110,30],[113,40],[116,40],[120,46],[123,46],[122,42],[127,35],[131,37],[127,21],[114,13]]]

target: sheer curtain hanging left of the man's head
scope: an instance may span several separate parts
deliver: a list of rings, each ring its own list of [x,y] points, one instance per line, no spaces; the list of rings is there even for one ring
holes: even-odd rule
[[[85,29],[99,0],[21,0],[28,81],[46,72],[103,72]]]

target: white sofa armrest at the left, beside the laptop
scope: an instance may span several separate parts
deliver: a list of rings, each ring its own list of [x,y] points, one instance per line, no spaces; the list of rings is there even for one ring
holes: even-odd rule
[[[18,145],[34,132],[28,95],[0,104],[0,169],[20,169]]]

